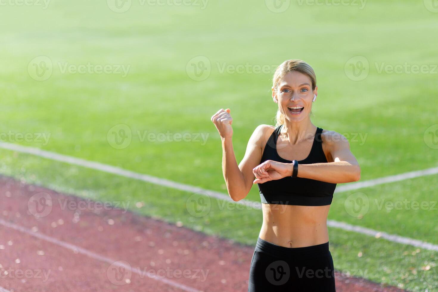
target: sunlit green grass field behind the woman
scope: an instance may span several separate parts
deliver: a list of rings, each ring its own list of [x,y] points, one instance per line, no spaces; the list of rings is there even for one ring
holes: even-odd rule
[[[133,0],[124,13],[112,11],[106,1],[0,7],[7,28],[0,32],[0,132],[10,133],[1,141],[226,193],[219,134],[210,117],[220,108],[231,109],[240,161],[254,128],[274,123],[272,69],[298,58],[317,74],[312,121],[350,138],[361,180],[437,166],[433,142],[438,137],[431,135],[438,123],[438,40],[432,37],[438,13],[423,1],[408,0],[369,1],[362,9],[353,5],[356,1],[334,6],[297,0],[282,13],[264,2],[209,1],[201,9],[200,1],[160,6]],[[350,63],[358,66],[357,56],[364,56],[369,68],[356,78],[360,81],[352,80],[349,70]],[[202,81],[191,78],[193,66],[206,65],[199,60],[211,66]],[[88,63],[107,65],[109,73],[75,72]],[[45,71],[41,78],[46,80],[37,81],[35,66],[48,66],[52,73]],[[66,66],[71,69],[64,71]],[[388,67],[381,71],[382,66]],[[412,66],[424,70],[416,74]],[[129,68],[125,77],[117,74],[118,67]],[[259,67],[269,69],[259,72]],[[392,67],[403,69],[394,73]],[[116,126],[120,133],[119,124],[131,131],[131,143],[123,149],[110,146],[110,129]],[[37,133],[50,135],[47,143]],[[145,139],[150,133],[188,133],[191,141]],[[196,140],[198,133],[206,141]],[[17,134],[30,138],[21,141]],[[260,210],[212,200],[208,214],[198,218],[186,207],[191,193],[4,149],[0,155],[0,173],[28,183],[96,200],[131,201],[132,211],[240,243],[255,244],[260,230]],[[438,244],[437,183],[437,176],[425,176],[337,193],[329,219]],[[369,199],[368,211],[360,216],[345,208],[356,192]],[[257,186],[247,199],[260,200]],[[403,200],[428,207],[382,205]],[[145,206],[135,207],[138,201]],[[437,289],[438,275],[422,268],[438,263],[438,253],[329,231],[337,269],[410,291]]]

